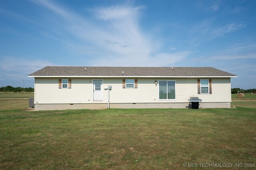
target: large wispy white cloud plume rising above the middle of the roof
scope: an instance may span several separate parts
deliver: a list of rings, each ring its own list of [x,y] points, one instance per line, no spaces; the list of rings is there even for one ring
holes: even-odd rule
[[[80,45],[70,45],[73,47],[94,46],[100,53],[97,57],[92,59],[84,59],[94,66],[111,64],[111,66],[127,65],[152,65],[154,66],[155,59],[158,59],[162,54],[158,54],[160,45],[157,41],[153,40],[151,35],[147,35],[141,30],[139,20],[141,15],[142,6],[110,6],[96,8],[93,14],[96,20],[90,21],[83,16],[80,16],[68,9],[65,9],[53,2],[49,1],[36,1],[44,8],[47,8],[61,20],[66,23],[62,29],[66,29],[68,33],[73,35],[76,39],[82,42]],[[97,24],[94,24],[97,23]],[[100,25],[100,26],[99,26]],[[62,37],[54,37],[57,35],[49,35],[59,42],[67,42],[61,40]],[[68,44],[68,43],[65,43]],[[81,48],[80,48],[81,49]],[[86,51],[84,50],[84,53]],[[181,52],[182,53],[182,52]],[[180,57],[175,57],[173,54],[166,54],[169,60],[178,62]],[[184,57],[188,53],[184,52]],[[132,61],[132,62],[131,62]],[[168,63],[168,62],[167,62]],[[166,62],[162,62],[166,65]],[[161,66],[161,65],[160,65]]]

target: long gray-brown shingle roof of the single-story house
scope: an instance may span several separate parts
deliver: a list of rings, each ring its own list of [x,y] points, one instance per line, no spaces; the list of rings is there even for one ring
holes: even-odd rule
[[[86,70],[84,70],[86,68]],[[124,72],[124,74],[122,74]],[[46,66],[28,76],[236,76],[212,67]]]

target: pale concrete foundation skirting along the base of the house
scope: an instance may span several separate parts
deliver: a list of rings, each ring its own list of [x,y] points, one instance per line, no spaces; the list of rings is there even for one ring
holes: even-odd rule
[[[187,108],[189,103],[110,103],[110,109],[122,108]],[[201,108],[230,108],[230,102],[200,103]],[[35,110],[107,109],[107,103],[97,104],[35,104]]]

